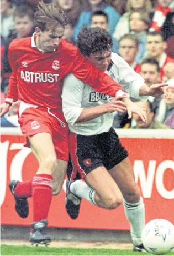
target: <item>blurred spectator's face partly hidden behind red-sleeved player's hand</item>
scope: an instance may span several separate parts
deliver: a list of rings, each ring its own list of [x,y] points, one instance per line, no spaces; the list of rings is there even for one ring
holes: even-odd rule
[[[133,118],[136,121],[136,124],[139,128],[148,128],[153,119],[154,119],[154,112],[150,112],[150,107],[148,102],[135,102],[136,105],[138,105],[141,108],[146,108],[146,116],[147,116],[147,123],[143,122],[141,118],[137,114],[133,114]]]

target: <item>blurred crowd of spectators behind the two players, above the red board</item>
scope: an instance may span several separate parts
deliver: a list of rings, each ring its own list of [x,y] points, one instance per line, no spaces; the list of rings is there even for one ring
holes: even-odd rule
[[[14,38],[29,37],[35,30],[38,0],[1,0],[1,103],[8,90],[8,47]],[[76,44],[84,26],[106,29],[113,38],[112,51],[145,79],[150,86],[167,83],[168,98],[135,101],[147,109],[148,122],[136,115],[115,113],[114,128],[174,128],[174,0],[45,0],[64,10],[69,23],[64,39]],[[1,126],[17,127],[17,104],[1,118]]]

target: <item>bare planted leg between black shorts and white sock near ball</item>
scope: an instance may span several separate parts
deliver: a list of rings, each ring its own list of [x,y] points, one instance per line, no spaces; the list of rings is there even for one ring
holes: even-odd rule
[[[140,191],[135,182],[134,169],[128,157],[109,170],[110,175],[117,183],[125,200],[135,200],[138,202]]]

